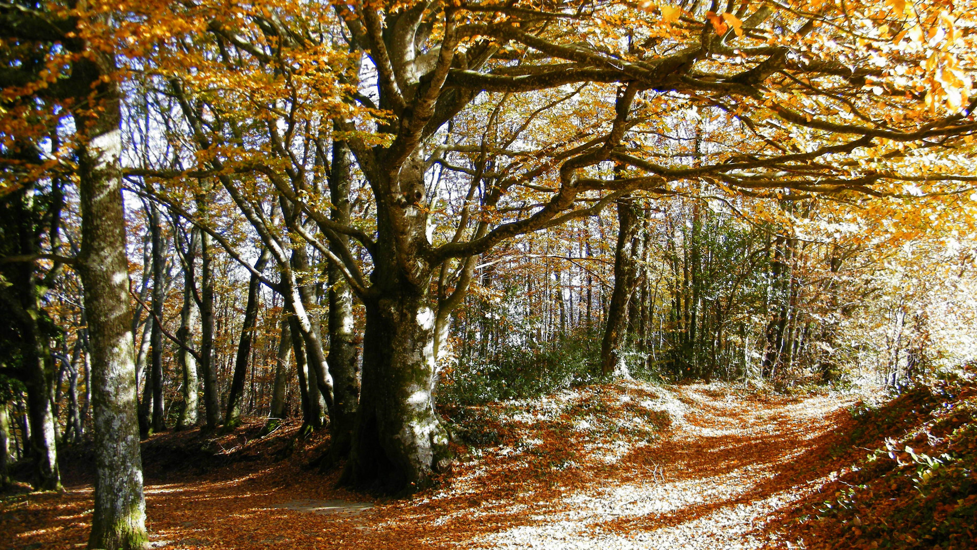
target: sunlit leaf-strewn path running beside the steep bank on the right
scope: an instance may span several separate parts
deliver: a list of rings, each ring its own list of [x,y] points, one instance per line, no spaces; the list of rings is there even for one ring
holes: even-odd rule
[[[601,550],[773,545],[767,519],[818,485],[818,458],[849,400],[744,400],[701,386],[674,393],[687,411],[655,445],[624,457],[611,479],[568,495],[563,512],[486,542]]]

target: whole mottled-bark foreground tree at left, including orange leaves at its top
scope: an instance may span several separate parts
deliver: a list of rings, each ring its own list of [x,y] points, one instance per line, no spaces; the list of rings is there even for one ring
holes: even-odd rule
[[[5,88],[18,90],[18,84],[29,83],[26,92],[21,89],[14,97],[27,103],[53,99],[70,106],[82,218],[81,249],[73,263],[84,285],[94,386],[96,483],[89,547],[129,550],[145,546],[146,514],[122,214],[121,92],[110,20],[101,14],[82,8],[65,17],[8,5],[0,10],[0,29],[9,38],[38,44],[44,52],[32,59],[38,62],[5,73]],[[67,74],[52,74],[51,68],[64,62],[70,63]],[[5,120],[8,129],[17,123],[12,118]],[[45,393],[43,399],[48,402],[49,396]]]

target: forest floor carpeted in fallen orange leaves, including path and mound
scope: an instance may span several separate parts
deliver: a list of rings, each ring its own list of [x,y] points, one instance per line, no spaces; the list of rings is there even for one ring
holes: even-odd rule
[[[405,500],[333,489],[260,420],[207,441],[145,444],[154,548],[781,548],[796,508],[837,477],[857,397],[784,396],[722,384],[588,386],[446,411],[458,461]],[[0,550],[83,548],[92,508],[83,455],[64,493],[0,498]],[[787,527],[786,527],[787,526]]]

